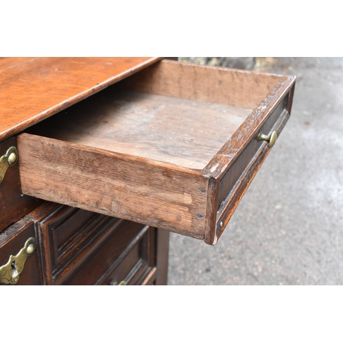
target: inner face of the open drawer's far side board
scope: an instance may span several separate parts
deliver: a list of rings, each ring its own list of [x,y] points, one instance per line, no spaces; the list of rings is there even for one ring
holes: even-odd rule
[[[162,60],[123,82],[128,89],[256,108],[287,76]]]

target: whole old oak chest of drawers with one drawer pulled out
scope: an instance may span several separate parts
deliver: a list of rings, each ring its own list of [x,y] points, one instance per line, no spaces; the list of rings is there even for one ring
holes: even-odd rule
[[[24,263],[23,284],[165,284],[169,231],[217,243],[295,84],[159,58],[1,63],[0,265]]]

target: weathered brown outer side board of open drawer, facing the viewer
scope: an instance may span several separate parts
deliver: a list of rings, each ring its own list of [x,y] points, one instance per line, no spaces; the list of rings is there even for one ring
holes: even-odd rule
[[[25,194],[204,237],[200,171],[25,133],[18,150]]]

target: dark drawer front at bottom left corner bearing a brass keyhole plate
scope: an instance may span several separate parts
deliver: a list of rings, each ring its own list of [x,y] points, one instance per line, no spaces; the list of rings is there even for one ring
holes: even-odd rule
[[[35,246],[33,252],[29,250],[32,246]],[[39,244],[34,222],[31,217],[26,216],[8,226],[0,234],[0,285],[41,285],[42,283]]]

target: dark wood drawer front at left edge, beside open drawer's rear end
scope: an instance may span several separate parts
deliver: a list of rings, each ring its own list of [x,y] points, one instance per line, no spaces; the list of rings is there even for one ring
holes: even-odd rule
[[[1,160],[1,156],[5,156],[10,147],[16,147],[15,137],[0,143],[0,161],[2,161],[0,162],[0,179],[3,179],[0,182],[0,233],[41,202],[36,198],[23,196],[21,193],[19,164],[15,163],[7,167],[7,163],[4,162],[5,158]]]

